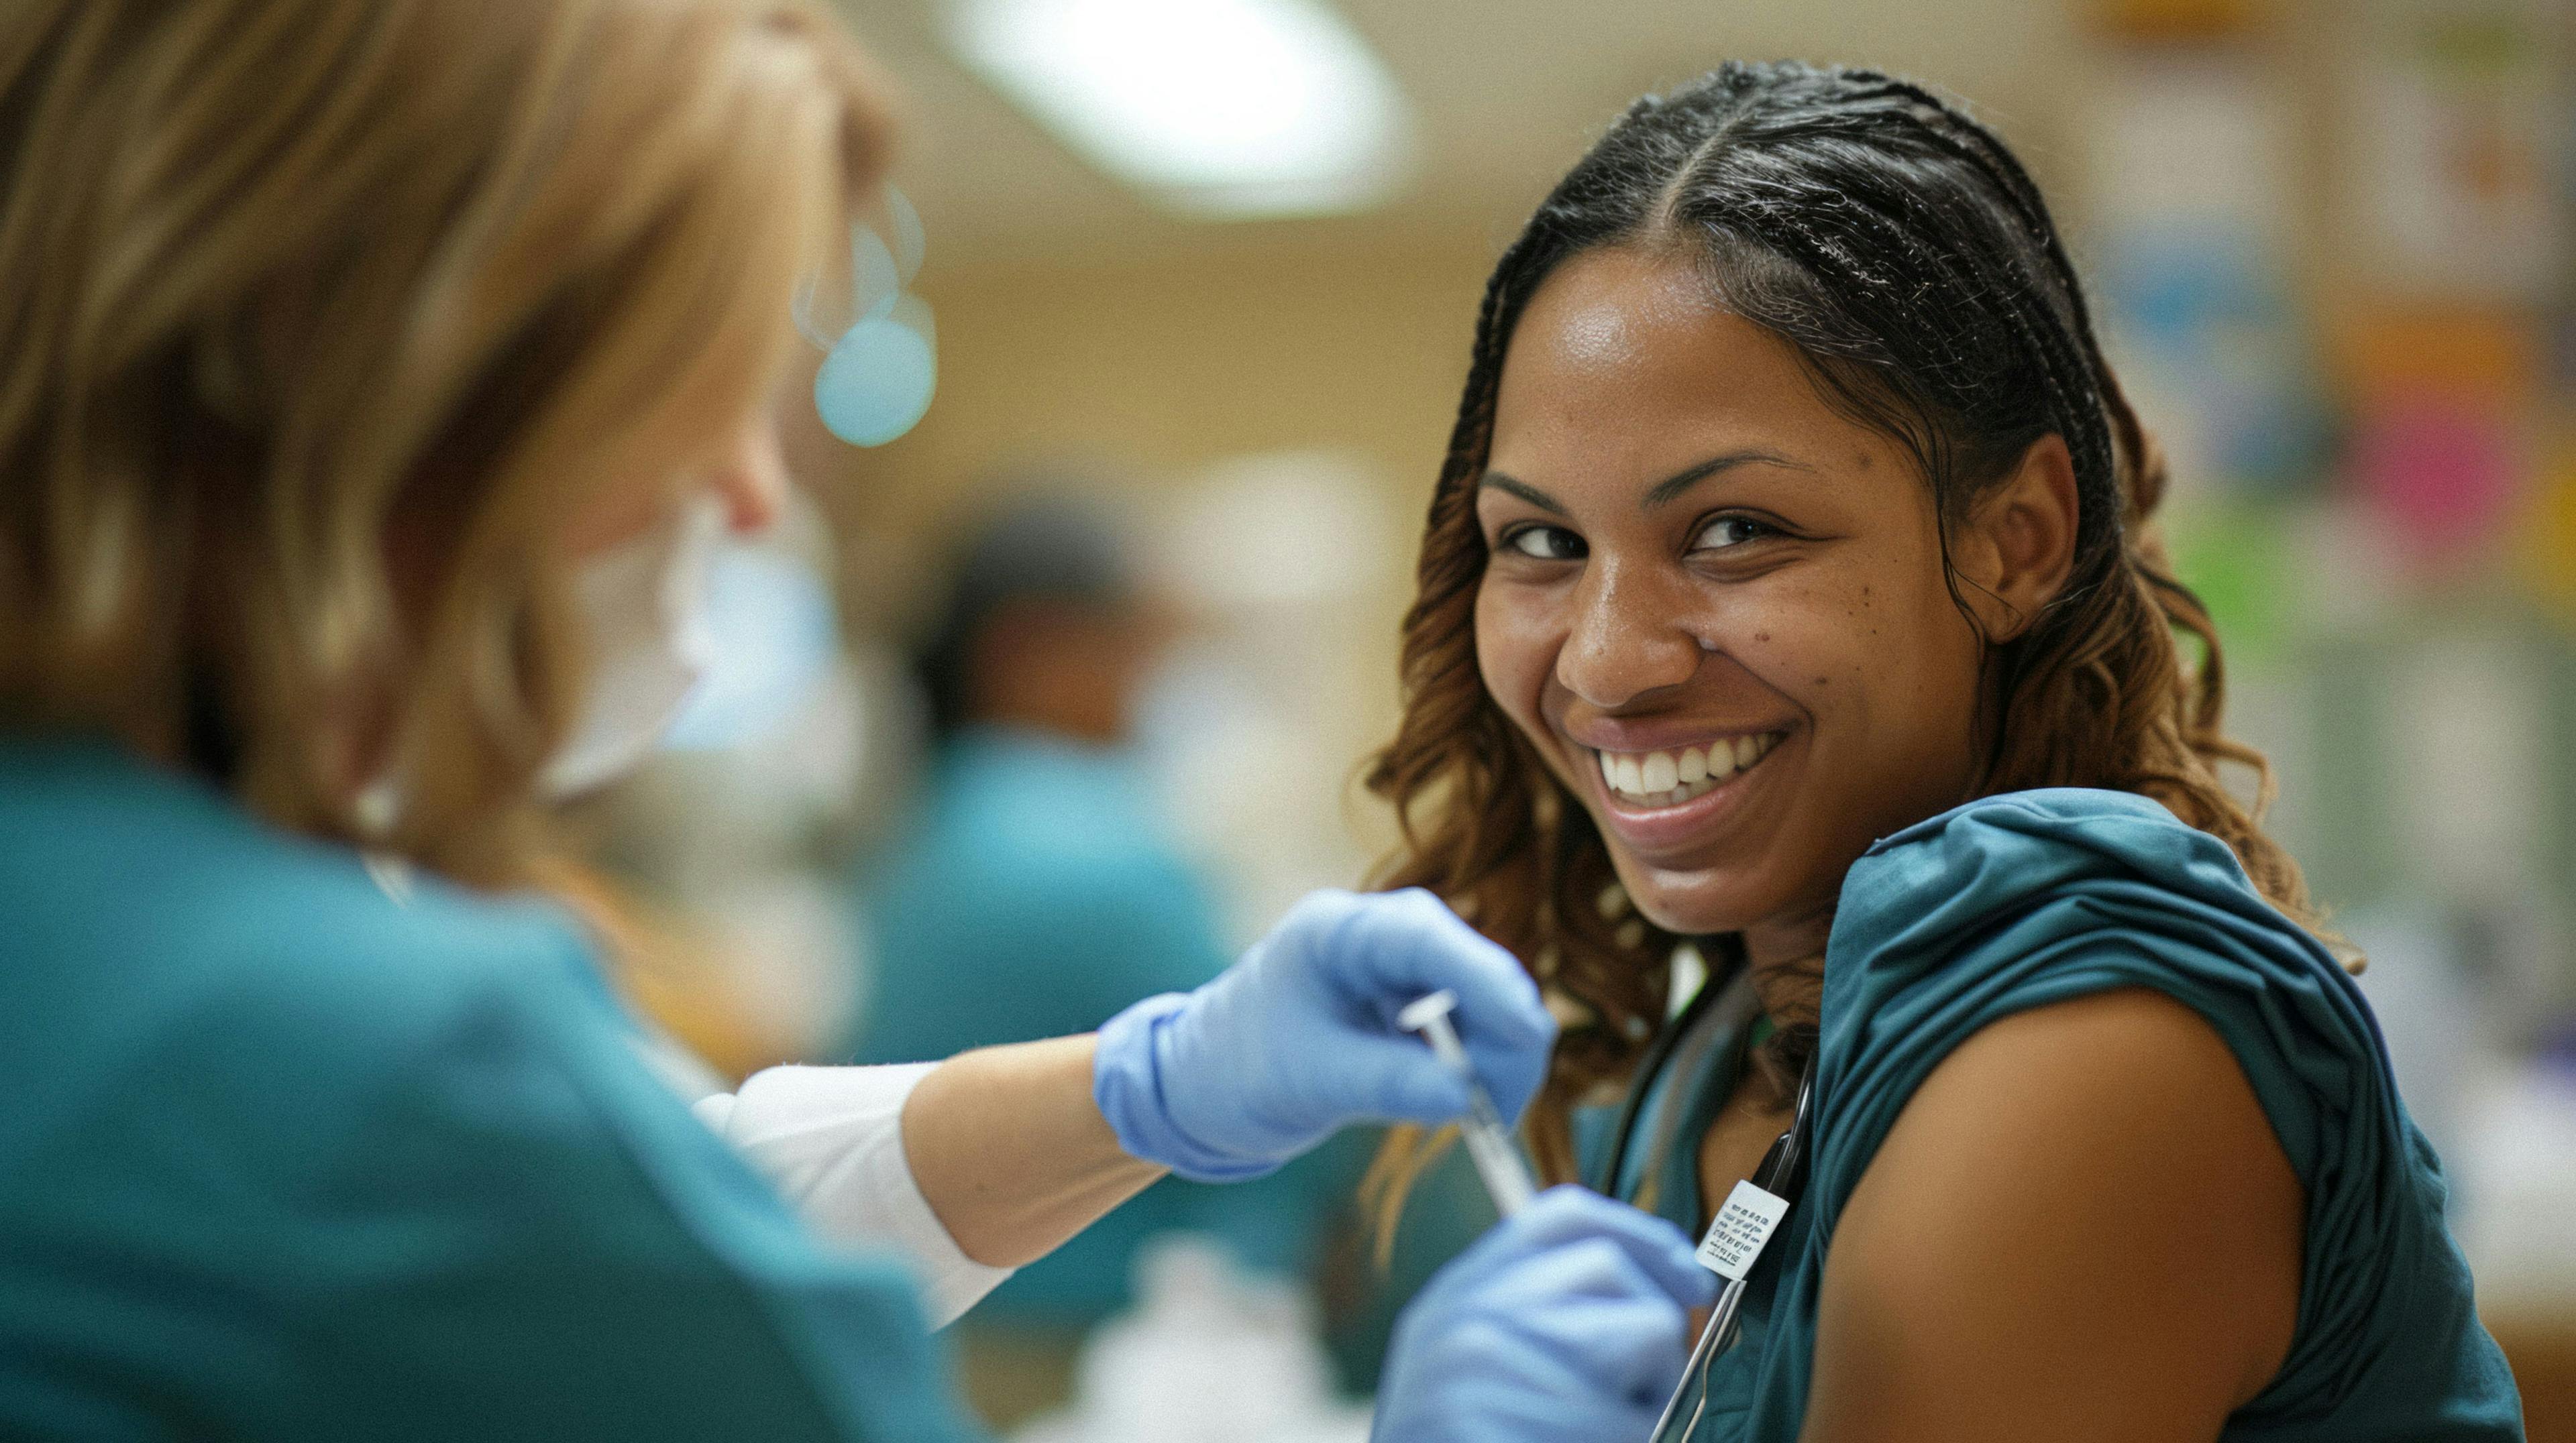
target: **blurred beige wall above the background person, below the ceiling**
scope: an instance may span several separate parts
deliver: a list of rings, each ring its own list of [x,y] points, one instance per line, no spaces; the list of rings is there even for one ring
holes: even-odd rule
[[[1337,448],[1406,515],[1430,497],[1476,301],[1473,237],[1224,245],[920,278],[940,392],[922,425],[837,456],[832,510],[917,539],[997,477],[1072,459],[1151,492],[1247,451]]]

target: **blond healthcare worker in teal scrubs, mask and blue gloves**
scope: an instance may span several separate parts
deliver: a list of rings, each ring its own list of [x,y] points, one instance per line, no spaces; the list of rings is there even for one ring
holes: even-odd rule
[[[0,10],[0,1435],[961,1438],[927,1322],[1005,1268],[1455,1116],[1404,1000],[1538,1085],[1510,956],[1321,894],[1097,1036],[690,1116],[518,894],[778,505],[871,95],[734,0]],[[1700,1299],[1551,1193],[1406,1319],[1381,1435],[1633,1438]]]

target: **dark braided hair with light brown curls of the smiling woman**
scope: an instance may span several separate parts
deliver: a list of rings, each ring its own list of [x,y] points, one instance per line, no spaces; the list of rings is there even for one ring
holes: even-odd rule
[[[1618,1085],[1664,1020],[1682,938],[1628,912],[1589,814],[1556,783],[1476,670],[1486,546],[1473,492],[1504,350],[1569,258],[1628,245],[1698,263],[1716,301],[1785,338],[1819,394],[1919,464],[1947,531],[2022,454],[2058,435],[2074,461],[2066,588],[1984,657],[1973,794],[2105,786],[2154,796],[2226,840],[2282,912],[2316,928],[2298,866],[2221,786],[2262,755],[2218,729],[2223,673],[2200,600],[2172,577],[2148,513],[2164,464],[2102,361],[2084,286],[2020,160],[1958,106],[1870,70],[1739,64],[1628,108],[1504,250],[1432,492],[1419,595],[1404,621],[1404,722],[1368,786],[1396,804],[1388,886],[1430,886],[1512,948],[1571,1023],[1530,1111],[1551,1178],[1571,1175],[1569,1111]],[[2174,631],[2197,639],[2184,665]],[[1984,634],[1984,631],[1981,631]],[[1721,974],[1736,938],[1695,938]],[[1811,979],[1814,984],[1816,979]],[[1762,1069],[1795,1077],[1814,995],[1777,1018]],[[1399,1136],[1378,1188],[1425,1160]],[[1388,1209],[1391,1216],[1391,1209]]]

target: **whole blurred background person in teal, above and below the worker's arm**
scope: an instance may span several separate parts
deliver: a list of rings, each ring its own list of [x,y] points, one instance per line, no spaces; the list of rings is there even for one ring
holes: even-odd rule
[[[1188,992],[1231,948],[1136,747],[1139,696],[1175,631],[1136,523],[1103,497],[1025,490],[976,521],[917,657],[930,755],[920,796],[858,876],[866,1005],[855,1062],[920,1062],[1097,1026]],[[1311,1273],[1347,1149],[1273,1178],[1167,1178],[1015,1273],[958,1327],[994,1415],[1051,1399],[1082,1332],[1131,1301],[1154,1234],[1216,1237],[1234,1263]]]

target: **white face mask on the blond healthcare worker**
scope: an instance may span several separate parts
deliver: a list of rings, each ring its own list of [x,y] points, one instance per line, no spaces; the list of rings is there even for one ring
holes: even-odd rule
[[[572,577],[590,631],[590,693],[538,786],[564,799],[641,763],[706,670],[706,572],[724,541],[724,500],[701,492],[649,533]]]

